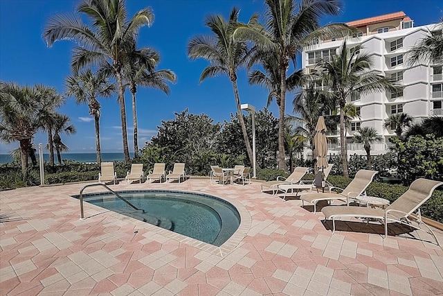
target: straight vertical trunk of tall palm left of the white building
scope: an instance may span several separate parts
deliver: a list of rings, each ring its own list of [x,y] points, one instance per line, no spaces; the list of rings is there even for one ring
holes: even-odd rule
[[[286,64],[280,63],[280,105],[278,105],[278,169],[287,171],[284,161],[284,105],[286,104]]]

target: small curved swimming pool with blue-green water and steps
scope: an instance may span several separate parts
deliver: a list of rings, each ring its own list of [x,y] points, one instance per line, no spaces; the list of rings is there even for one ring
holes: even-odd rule
[[[84,194],[83,199],[216,246],[227,241],[240,224],[239,213],[233,204],[213,195],[165,190],[116,192],[143,211],[136,211],[109,192]]]

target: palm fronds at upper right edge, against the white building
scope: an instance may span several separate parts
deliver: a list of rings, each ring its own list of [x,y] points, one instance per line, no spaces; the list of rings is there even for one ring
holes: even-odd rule
[[[437,24],[435,31],[419,40],[415,46],[411,47],[407,54],[408,65],[424,62],[442,62],[443,59],[443,22]]]

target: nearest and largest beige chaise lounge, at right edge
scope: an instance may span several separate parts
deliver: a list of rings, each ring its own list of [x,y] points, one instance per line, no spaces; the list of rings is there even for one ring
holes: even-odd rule
[[[325,214],[325,220],[332,219],[332,234],[335,232],[335,219],[338,217],[378,220],[385,227],[384,238],[388,236],[388,220],[426,232],[419,227],[421,224],[426,225],[422,221],[419,207],[431,198],[433,191],[441,185],[443,185],[443,182],[440,181],[427,180],[424,178],[417,179],[410,184],[408,191],[403,193],[386,209],[371,207],[324,207],[321,211]],[[417,214],[413,215],[415,211],[417,211]],[[415,221],[418,226],[412,225],[413,221]],[[440,245],[432,229],[428,227],[428,225],[426,225],[426,227],[428,228],[427,233],[435,238],[437,245]]]

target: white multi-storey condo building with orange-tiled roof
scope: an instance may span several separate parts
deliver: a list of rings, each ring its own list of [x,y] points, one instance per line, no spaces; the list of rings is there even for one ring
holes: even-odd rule
[[[359,37],[350,38],[347,44],[361,44],[363,49],[372,57],[373,67],[382,75],[395,80],[402,85],[402,91],[390,93],[378,92],[368,96],[353,96],[347,98],[348,103],[357,107],[360,119],[352,121],[347,130],[348,155],[365,154],[363,144],[352,143],[352,135],[363,126],[370,126],[384,137],[383,143],[372,144],[372,154],[388,151],[388,139],[395,135],[394,130],[383,127],[386,119],[393,113],[404,112],[419,121],[428,116],[443,115],[443,78],[442,64],[417,64],[413,67],[406,65],[406,53],[411,46],[437,30],[436,24],[414,26],[412,19],[404,12],[395,12],[368,19],[350,21],[359,32]],[[440,28],[441,30],[441,28]],[[318,44],[302,52],[302,67],[307,73],[316,71],[317,62],[336,54],[343,40],[320,40]],[[328,137],[340,137],[339,132],[329,132]],[[329,144],[329,153],[340,153],[340,141]]]

